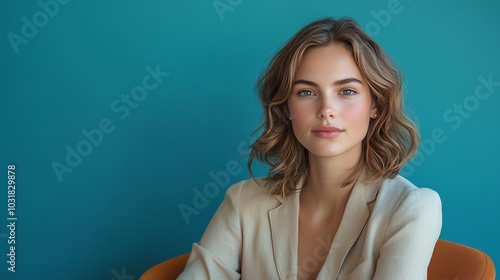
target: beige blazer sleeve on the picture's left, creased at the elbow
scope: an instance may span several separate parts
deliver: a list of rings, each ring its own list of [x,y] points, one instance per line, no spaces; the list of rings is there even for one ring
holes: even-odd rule
[[[240,279],[242,234],[240,196],[243,182],[231,186],[200,242],[194,243],[186,268],[177,278]]]

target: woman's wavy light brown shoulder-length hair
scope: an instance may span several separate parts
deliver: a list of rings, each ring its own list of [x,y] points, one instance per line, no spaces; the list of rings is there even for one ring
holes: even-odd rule
[[[262,134],[250,147],[248,169],[253,178],[255,158],[271,167],[266,181],[271,183],[272,194],[289,194],[307,179],[308,152],[295,138],[287,118],[287,101],[304,53],[333,43],[352,53],[378,114],[370,120],[361,158],[342,187],[355,183],[364,171],[368,183],[395,177],[418,148],[420,135],[404,113],[402,79],[392,61],[354,20],[318,20],[302,28],[276,53],[257,83],[264,121],[256,130]]]

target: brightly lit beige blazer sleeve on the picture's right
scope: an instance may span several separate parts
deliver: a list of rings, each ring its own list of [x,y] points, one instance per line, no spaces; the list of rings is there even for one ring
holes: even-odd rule
[[[390,219],[373,279],[427,279],[441,226],[439,195],[425,188],[409,191]]]

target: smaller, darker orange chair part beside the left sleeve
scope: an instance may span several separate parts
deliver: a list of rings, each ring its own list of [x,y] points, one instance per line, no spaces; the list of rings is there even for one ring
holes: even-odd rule
[[[140,280],[175,280],[186,267],[189,254],[159,263],[146,271]]]

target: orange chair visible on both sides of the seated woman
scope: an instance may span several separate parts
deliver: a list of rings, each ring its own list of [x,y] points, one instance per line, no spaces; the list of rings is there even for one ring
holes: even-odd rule
[[[157,264],[140,280],[175,280],[186,267],[189,254]],[[457,243],[438,240],[427,270],[428,280],[495,280],[495,267],[485,253]]]

